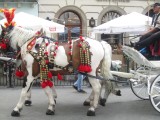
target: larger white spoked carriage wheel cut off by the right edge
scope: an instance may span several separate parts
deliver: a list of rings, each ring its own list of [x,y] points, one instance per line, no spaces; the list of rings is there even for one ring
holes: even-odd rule
[[[160,75],[158,75],[151,84],[150,101],[152,106],[160,112]]]

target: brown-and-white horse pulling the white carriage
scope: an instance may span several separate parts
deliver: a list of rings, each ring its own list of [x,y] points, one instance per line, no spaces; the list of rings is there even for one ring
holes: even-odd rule
[[[16,107],[12,111],[12,116],[20,116],[20,111],[22,110],[25,98],[27,97],[27,93],[30,91],[30,87],[33,83],[33,80],[38,77],[33,75],[33,64],[34,64],[34,58],[33,56],[28,52],[27,46],[31,42],[31,38],[35,36],[35,32],[26,30],[20,27],[8,27],[5,29],[6,35],[5,37],[8,37],[10,40],[10,45],[13,49],[17,49],[17,47],[21,48],[21,58],[23,63],[25,63],[26,71],[27,71],[27,81],[26,84],[23,85],[22,92],[20,95],[19,102],[17,103]],[[90,52],[91,55],[91,69],[92,71],[89,72],[89,75],[96,76],[97,70],[100,69],[101,76],[103,76],[105,79],[112,78],[112,75],[110,73],[110,67],[111,67],[111,46],[106,42],[99,42],[97,40],[93,40],[90,38],[84,38],[85,41],[87,41],[88,45],[90,46]],[[39,37],[36,39],[36,43],[41,43],[43,40],[47,40],[47,38]],[[48,40],[47,40],[48,41]],[[79,58],[79,51],[77,52],[78,47],[78,41],[79,39],[73,41],[73,48],[72,51],[72,59],[67,54],[66,44],[60,44],[57,50],[57,55],[55,56],[54,64],[58,66],[65,67],[69,64],[69,61],[72,60],[73,67],[77,68],[79,65],[79,61],[77,62],[77,59],[75,59],[77,56]],[[48,56],[50,56],[50,47],[52,45],[55,45],[55,42],[51,42],[47,47],[46,51],[49,53]],[[36,44],[31,49],[32,52],[37,53],[37,50],[35,48]],[[69,46],[69,45],[68,45]],[[78,54],[78,55],[77,55]],[[80,58],[79,58],[80,60]],[[90,102],[90,108],[88,109],[87,115],[88,116],[94,116],[95,110],[98,105],[99,96],[100,96],[100,89],[101,84],[98,79],[89,77],[89,82],[92,86],[92,93],[85,100],[85,102]],[[49,106],[48,110],[46,112],[47,115],[53,115],[55,112],[55,101],[52,95],[52,88],[49,86],[46,86],[44,88],[44,91],[49,99]]]

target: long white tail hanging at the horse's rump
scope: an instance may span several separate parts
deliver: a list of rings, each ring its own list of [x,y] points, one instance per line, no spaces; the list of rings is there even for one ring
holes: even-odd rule
[[[113,78],[113,76],[110,72],[111,62],[112,62],[112,48],[105,41],[102,41],[101,44],[104,49],[104,58],[103,58],[102,66],[101,66],[101,70],[100,70],[101,75],[106,79],[110,79],[110,78]]]

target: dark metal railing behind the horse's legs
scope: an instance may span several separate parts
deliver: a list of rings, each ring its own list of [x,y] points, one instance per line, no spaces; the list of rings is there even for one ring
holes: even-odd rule
[[[16,87],[23,85],[23,79],[19,79],[15,76],[15,65],[12,62],[0,61],[0,86]],[[53,76],[52,81],[55,86],[72,86],[76,81],[77,76],[62,75],[62,80],[58,80],[57,76]],[[82,85],[86,85],[84,81]],[[33,86],[40,86],[40,79],[34,80]]]

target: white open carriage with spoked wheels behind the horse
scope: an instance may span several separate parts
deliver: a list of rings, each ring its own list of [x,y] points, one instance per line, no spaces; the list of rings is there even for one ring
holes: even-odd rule
[[[138,64],[138,69],[130,70],[130,73],[112,71],[112,74],[129,78],[133,93],[141,99],[149,99],[160,112],[160,61],[149,61],[128,46],[123,46],[123,52]]]

